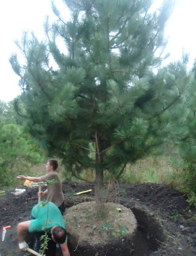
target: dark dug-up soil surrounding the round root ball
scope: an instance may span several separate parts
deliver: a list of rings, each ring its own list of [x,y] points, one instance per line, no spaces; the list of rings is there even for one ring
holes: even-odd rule
[[[38,203],[38,187],[20,188],[26,191],[20,195],[11,193],[14,191],[0,194],[1,230],[5,226],[11,226],[7,230],[4,242],[0,239],[1,256],[27,255],[18,248],[16,227],[19,222],[30,220],[31,210]],[[76,192],[89,189],[92,189],[92,192],[86,195],[74,195]],[[68,208],[94,200],[94,184],[77,182],[68,184],[65,181],[63,193],[66,198],[65,206]],[[166,185],[146,183],[119,184],[119,194],[119,203],[130,208],[135,214],[140,235],[138,243],[127,256],[196,255],[196,223],[193,218],[195,209],[188,208],[186,197],[181,192]],[[2,237],[2,231],[0,236]],[[79,248],[70,249],[70,254],[91,256],[88,250],[80,251]],[[61,252],[58,251],[56,255],[61,256]],[[111,250],[108,248],[106,255],[118,255],[118,252],[114,254],[112,248]]]

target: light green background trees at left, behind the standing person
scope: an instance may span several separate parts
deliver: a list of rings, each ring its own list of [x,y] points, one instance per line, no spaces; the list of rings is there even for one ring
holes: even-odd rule
[[[43,159],[43,150],[16,118],[13,101],[0,101],[0,186],[16,184],[16,174]]]

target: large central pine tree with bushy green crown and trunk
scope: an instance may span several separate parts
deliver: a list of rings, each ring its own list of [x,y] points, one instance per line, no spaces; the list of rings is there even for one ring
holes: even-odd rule
[[[17,44],[25,64],[10,58],[24,91],[26,111],[17,109],[30,133],[74,175],[95,168],[100,210],[104,170],[118,175],[160,145],[169,132],[169,109],[181,98],[182,81],[177,84],[167,69],[152,71],[163,59],[172,1],[155,12],[151,0],[63,2],[69,22],[52,2],[58,20],[50,25],[46,19],[47,42],[24,33]],[[52,57],[57,69],[49,64]]]

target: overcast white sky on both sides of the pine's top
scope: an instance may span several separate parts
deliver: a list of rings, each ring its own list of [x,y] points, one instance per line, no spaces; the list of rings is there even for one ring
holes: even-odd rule
[[[155,4],[161,0],[155,0]],[[59,9],[66,14],[65,6],[61,0],[55,0]],[[166,51],[171,56],[164,62],[180,60],[182,47],[190,53],[189,67],[196,59],[196,39],[195,39],[195,0],[178,0],[170,20],[167,23],[165,35],[169,36]],[[45,15],[50,15],[50,19],[55,16],[51,11],[50,0],[6,0],[1,2],[0,9],[0,100],[10,101],[14,99],[20,90],[18,87],[19,77],[13,72],[8,58],[12,52],[17,51],[14,40],[21,39],[24,30],[34,31],[35,35],[43,38],[43,21]]]

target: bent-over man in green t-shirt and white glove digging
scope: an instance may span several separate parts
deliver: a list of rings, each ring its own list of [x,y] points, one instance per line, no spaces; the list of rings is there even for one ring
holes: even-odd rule
[[[40,202],[33,207],[32,216],[32,220],[21,222],[17,226],[19,248],[24,249],[27,246],[27,243],[24,241],[24,231],[46,231],[51,238],[48,242],[48,249],[45,251],[46,256],[55,255],[56,243],[60,244],[63,256],[70,256],[67,247],[65,221],[57,206],[52,202]],[[38,242],[41,243],[40,241]]]

